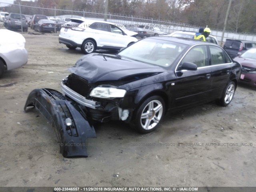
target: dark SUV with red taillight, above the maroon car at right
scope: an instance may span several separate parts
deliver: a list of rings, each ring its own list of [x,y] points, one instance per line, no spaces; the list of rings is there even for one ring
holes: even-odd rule
[[[238,52],[243,53],[250,48],[256,48],[256,42],[227,39],[224,44],[224,50],[229,54],[231,58],[238,56]]]

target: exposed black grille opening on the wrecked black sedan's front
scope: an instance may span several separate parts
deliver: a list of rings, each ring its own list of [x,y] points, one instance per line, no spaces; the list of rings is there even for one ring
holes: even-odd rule
[[[86,98],[88,98],[90,92],[93,89],[92,85],[89,84],[87,80],[76,74],[71,74],[68,76],[66,86]]]

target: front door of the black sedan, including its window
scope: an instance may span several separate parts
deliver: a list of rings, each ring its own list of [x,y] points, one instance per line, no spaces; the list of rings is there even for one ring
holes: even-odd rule
[[[178,68],[184,62],[197,65],[196,71]],[[175,107],[200,103],[207,100],[211,94],[211,69],[208,67],[207,45],[198,45],[191,48],[181,60],[176,70]]]

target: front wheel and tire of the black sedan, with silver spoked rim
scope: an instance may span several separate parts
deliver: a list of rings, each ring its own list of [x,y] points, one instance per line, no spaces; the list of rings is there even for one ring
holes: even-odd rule
[[[136,111],[132,125],[140,133],[152,132],[159,126],[164,112],[164,100],[160,96],[151,96]]]

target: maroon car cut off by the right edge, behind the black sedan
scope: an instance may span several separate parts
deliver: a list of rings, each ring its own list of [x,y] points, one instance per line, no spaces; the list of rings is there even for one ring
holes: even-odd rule
[[[238,53],[235,61],[242,65],[242,74],[240,82],[256,86],[256,48],[252,48],[244,52]]]

